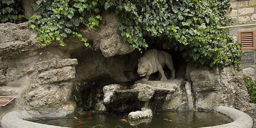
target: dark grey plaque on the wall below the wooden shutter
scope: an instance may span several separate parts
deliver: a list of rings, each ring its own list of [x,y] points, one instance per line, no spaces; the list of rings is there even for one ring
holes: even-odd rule
[[[240,61],[241,64],[255,63],[255,50],[243,50],[243,52],[244,54],[242,54]]]

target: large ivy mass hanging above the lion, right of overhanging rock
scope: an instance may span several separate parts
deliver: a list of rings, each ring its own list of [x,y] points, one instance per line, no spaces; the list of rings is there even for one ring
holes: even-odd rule
[[[119,0],[111,2],[111,9],[120,17],[117,32],[121,40],[133,48],[147,48],[145,37],[159,37],[166,41],[163,48],[180,50],[186,61],[213,67],[224,66],[226,62],[239,64],[241,59],[241,46],[234,42],[228,29],[217,29],[230,24],[224,16],[229,3],[229,0]]]

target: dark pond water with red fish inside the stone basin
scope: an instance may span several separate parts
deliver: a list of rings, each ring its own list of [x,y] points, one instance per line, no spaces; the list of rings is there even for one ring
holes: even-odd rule
[[[200,128],[232,122],[228,116],[205,111],[162,111],[151,119],[129,121],[127,115],[86,113],[76,117],[29,120],[71,128]]]

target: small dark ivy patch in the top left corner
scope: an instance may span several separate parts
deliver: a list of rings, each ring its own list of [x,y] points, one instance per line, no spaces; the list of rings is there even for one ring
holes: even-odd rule
[[[20,0],[0,0],[0,22],[19,23],[27,20]]]

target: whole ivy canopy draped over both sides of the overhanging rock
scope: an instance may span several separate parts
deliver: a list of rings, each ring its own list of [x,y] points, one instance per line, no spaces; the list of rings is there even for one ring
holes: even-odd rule
[[[227,29],[230,20],[224,14],[229,0],[38,0],[33,8],[39,13],[29,27],[38,32],[41,47],[56,39],[65,46],[68,36],[81,39],[78,26],[99,27],[102,11],[114,12],[119,18],[117,33],[132,48],[148,48],[145,38],[165,40],[163,48],[180,50],[186,61],[223,66],[239,64],[241,46]]]

